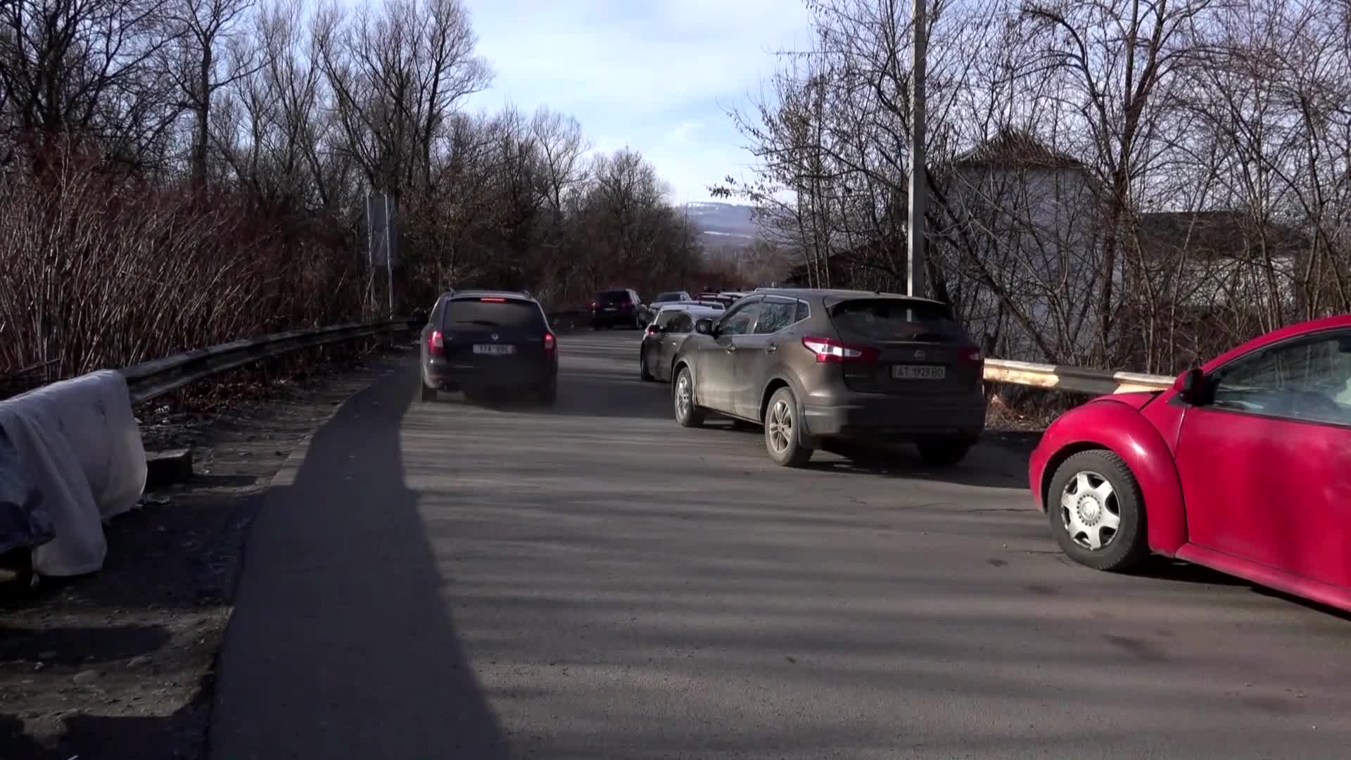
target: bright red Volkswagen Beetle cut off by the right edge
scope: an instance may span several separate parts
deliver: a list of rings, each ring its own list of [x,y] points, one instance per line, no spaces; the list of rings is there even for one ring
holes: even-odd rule
[[[1351,315],[1063,414],[1028,477],[1088,567],[1163,554],[1351,611]]]

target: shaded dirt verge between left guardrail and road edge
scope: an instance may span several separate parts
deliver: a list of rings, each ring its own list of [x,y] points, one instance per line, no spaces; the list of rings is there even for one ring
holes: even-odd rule
[[[195,477],[107,525],[103,571],[0,583],[0,757],[205,755],[212,667],[262,494],[292,449],[405,350],[209,411],[138,410],[146,448],[190,446]]]

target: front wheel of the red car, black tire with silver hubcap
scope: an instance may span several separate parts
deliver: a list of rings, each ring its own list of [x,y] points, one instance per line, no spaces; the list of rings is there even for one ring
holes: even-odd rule
[[[1061,550],[1081,565],[1123,572],[1150,556],[1140,485],[1121,457],[1106,449],[1079,452],[1055,469],[1046,514]],[[1117,525],[1104,540],[1111,522]]]

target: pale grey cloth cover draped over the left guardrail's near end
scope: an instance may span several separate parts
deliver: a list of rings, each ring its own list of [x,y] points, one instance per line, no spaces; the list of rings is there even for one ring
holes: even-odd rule
[[[146,452],[126,379],[93,372],[0,402],[0,431],[18,450],[23,476],[41,494],[32,503],[55,533],[32,549],[32,569],[50,576],[100,569],[103,521],[134,507],[146,485]],[[20,519],[43,518],[28,511]]]

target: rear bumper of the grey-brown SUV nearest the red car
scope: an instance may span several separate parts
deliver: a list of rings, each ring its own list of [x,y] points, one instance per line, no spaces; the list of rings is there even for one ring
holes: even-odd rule
[[[978,438],[985,430],[985,396],[915,399],[869,394],[848,403],[802,407],[809,435],[920,440]]]

